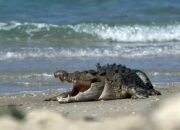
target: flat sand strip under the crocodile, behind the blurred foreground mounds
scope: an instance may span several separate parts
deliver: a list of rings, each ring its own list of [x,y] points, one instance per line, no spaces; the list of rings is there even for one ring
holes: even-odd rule
[[[108,101],[89,101],[59,104],[57,101],[43,101],[47,97],[57,95],[57,92],[38,92],[15,95],[0,95],[0,108],[15,106],[25,112],[32,110],[48,110],[60,113],[70,119],[100,119],[115,118],[129,115],[146,115],[168,97],[180,93],[180,86],[158,87],[162,95],[150,96],[146,99],[118,99]]]

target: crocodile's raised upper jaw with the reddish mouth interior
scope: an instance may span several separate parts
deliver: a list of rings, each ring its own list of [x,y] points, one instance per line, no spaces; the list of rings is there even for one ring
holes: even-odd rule
[[[73,89],[70,96],[75,96],[79,92],[88,90],[92,83],[101,82],[101,79],[97,76],[97,71],[76,71],[74,73],[68,73],[64,70],[58,70],[54,73],[55,78],[59,78],[60,81],[73,83]]]

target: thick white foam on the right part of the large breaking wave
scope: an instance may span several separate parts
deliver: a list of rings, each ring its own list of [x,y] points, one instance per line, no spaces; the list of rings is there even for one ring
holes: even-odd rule
[[[87,33],[104,40],[118,42],[148,42],[180,40],[180,25],[167,26],[109,26],[106,24],[78,24],[70,26],[76,32]]]

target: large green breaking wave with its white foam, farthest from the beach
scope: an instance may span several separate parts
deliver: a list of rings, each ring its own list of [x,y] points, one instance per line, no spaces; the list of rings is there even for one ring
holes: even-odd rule
[[[73,40],[116,42],[165,42],[180,41],[180,24],[169,25],[108,25],[80,23],[55,25],[46,23],[0,23],[0,37],[7,40],[47,40],[51,43]],[[72,39],[72,40],[71,40]],[[75,42],[75,40],[74,40]]]

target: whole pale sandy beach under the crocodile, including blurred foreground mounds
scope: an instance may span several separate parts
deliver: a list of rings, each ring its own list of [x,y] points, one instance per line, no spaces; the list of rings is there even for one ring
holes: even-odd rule
[[[147,99],[59,104],[43,99],[58,93],[0,96],[0,107],[16,106],[26,111],[24,122],[0,119],[0,130],[84,130],[84,129],[178,129],[180,128],[180,87],[158,88],[161,96]],[[23,126],[23,127],[22,127]]]

